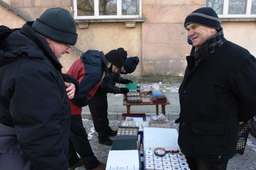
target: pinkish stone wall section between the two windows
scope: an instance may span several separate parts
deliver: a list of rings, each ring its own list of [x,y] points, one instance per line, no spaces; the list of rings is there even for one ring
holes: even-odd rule
[[[182,77],[191,46],[183,27],[186,15],[205,0],[143,0],[143,77]]]

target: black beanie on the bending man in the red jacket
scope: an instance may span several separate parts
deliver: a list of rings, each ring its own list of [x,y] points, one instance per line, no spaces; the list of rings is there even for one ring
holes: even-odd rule
[[[117,50],[109,51],[105,57],[115,65],[117,68],[122,68],[125,65],[125,59],[127,58],[127,52],[124,48],[117,48]]]

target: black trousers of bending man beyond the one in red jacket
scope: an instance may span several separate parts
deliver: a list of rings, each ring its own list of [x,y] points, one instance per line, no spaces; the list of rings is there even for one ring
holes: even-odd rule
[[[108,133],[112,129],[109,127],[107,94],[95,94],[90,99],[88,106],[93,117],[94,128],[99,133],[99,139],[108,137]]]

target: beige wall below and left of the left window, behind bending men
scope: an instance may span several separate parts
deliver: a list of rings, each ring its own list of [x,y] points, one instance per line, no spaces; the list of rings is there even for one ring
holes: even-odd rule
[[[33,20],[38,18],[47,8],[62,7],[72,11],[72,0],[5,0]],[[105,54],[119,47],[124,48],[128,57],[138,56],[141,61],[141,23],[136,23],[135,28],[126,28],[125,23],[89,23],[88,28],[77,27],[78,41],[75,45],[81,51],[89,49],[103,51]],[[80,54],[65,54],[61,57],[61,64],[66,72]],[[141,63],[131,75],[141,75]]]

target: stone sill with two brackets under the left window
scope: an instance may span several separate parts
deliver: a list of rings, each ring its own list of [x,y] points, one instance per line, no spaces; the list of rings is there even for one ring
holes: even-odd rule
[[[88,28],[89,23],[125,23],[125,27],[134,28],[137,22],[144,22],[145,18],[131,19],[92,19],[92,20],[76,20],[79,28]]]

